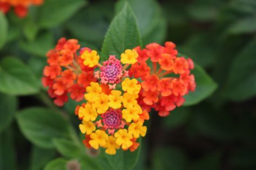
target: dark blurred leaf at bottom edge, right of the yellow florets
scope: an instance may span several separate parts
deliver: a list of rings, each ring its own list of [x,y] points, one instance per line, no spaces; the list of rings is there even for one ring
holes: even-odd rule
[[[187,169],[185,154],[178,148],[157,148],[153,153],[152,169]]]

